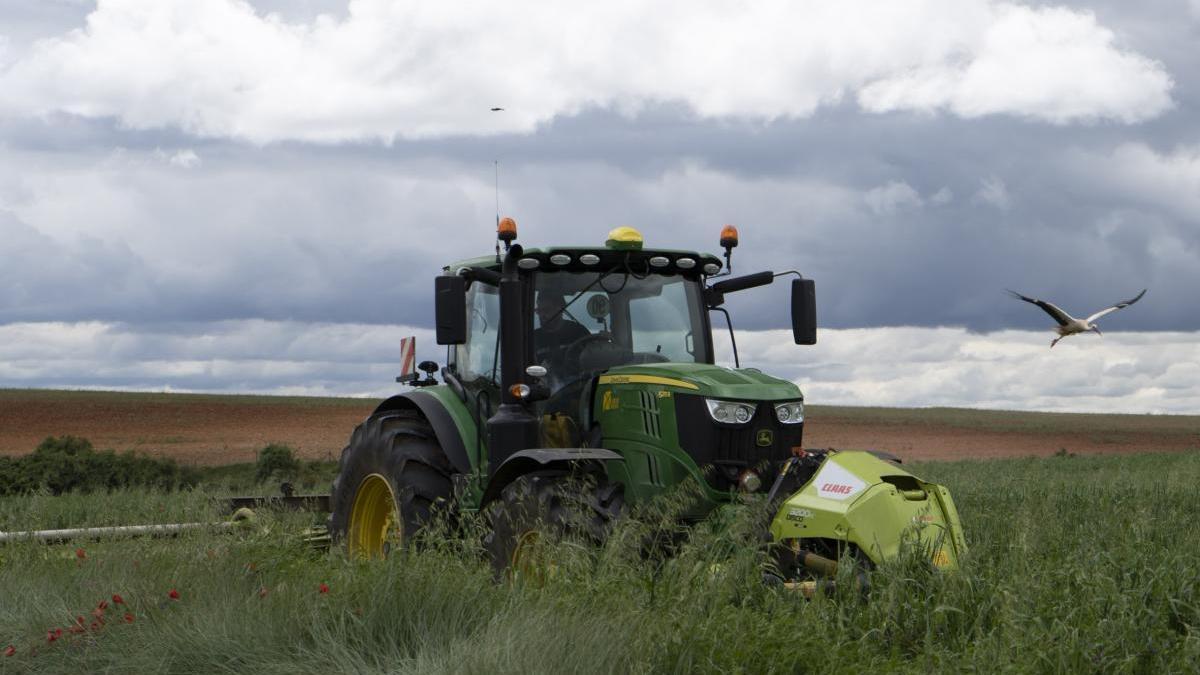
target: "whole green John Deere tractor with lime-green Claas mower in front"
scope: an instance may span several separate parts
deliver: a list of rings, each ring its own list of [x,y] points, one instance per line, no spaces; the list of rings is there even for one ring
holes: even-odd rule
[[[352,557],[384,557],[437,509],[487,515],[498,572],[520,566],[540,528],[602,539],[626,504],[684,482],[684,516],[766,495],[775,574],[811,589],[842,556],[870,566],[906,539],[954,568],[965,540],[949,492],[882,453],[805,449],[792,382],[714,364],[710,315],[725,297],[791,280],[796,344],[816,344],[811,280],[730,276],[695,251],[650,250],[637,231],[605,246],[523,249],[499,223],[502,255],[436,277],[437,341],[414,389],[383,401],[342,452],[330,531]],[[737,363],[732,324],[730,340]]]

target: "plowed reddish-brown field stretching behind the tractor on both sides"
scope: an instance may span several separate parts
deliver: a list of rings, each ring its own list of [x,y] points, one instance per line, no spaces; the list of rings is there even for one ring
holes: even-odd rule
[[[336,459],[376,399],[0,389],[0,454],[47,436],[137,449],[182,462],[252,461],[266,443]],[[1063,414],[965,408],[809,406],[805,446],[874,448],[907,460],[1200,449],[1200,417]]]

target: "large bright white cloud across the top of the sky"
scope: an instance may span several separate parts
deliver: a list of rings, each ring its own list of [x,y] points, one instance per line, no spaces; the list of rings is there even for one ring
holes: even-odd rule
[[[102,0],[0,72],[10,114],[66,112],[256,143],[528,132],[590,106],[706,118],[872,112],[1135,123],[1162,64],[1096,17],[996,0],[445,5],[286,20],[244,0]],[[503,106],[504,113],[490,113]]]

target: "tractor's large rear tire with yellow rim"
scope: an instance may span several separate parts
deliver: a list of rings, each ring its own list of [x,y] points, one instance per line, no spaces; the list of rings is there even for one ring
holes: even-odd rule
[[[354,558],[410,545],[452,502],[452,467],[433,428],[412,410],[373,414],[350,436],[330,495],[329,532]]]

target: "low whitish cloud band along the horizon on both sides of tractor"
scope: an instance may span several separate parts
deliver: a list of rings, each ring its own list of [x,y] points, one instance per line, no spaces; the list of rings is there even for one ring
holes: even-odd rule
[[[400,339],[444,362],[432,331],[404,325],[224,321],[0,324],[0,387],[384,396]],[[811,404],[1058,412],[1195,413],[1200,333],[1105,333],[1049,348],[1050,331],[822,329],[739,331],[743,366],[794,380]],[[718,358],[730,359],[716,331]]]

